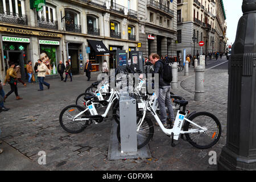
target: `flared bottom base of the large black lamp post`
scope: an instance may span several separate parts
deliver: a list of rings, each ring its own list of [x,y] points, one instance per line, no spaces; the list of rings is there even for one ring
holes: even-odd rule
[[[256,157],[245,158],[235,154],[226,146],[222,148],[218,160],[218,171],[255,171]]]

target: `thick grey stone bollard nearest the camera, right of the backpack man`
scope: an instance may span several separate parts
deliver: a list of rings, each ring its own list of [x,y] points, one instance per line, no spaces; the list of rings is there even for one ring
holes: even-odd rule
[[[195,101],[204,101],[204,67],[199,65],[195,68]]]

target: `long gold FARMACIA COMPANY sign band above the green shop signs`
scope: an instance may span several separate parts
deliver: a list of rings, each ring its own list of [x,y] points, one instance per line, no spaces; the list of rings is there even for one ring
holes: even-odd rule
[[[55,38],[62,38],[61,34],[56,34],[56,33],[52,33],[52,32],[39,32],[39,31],[25,30],[25,29],[20,29],[20,28],[0,27],[0,31],[10,32],[10,33],[14,33],[14,34],[51,36],[51,37],[55,37]]]

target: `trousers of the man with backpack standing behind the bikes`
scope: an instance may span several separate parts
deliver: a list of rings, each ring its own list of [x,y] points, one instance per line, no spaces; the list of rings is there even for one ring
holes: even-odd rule
[[[170,92],[171,86],[163,86],[163,88],[159,88],[158,106],[160,110],[160,120],[162,121],[162,123],[166,123],[167,119],[166,106],[169,113],[168,117],[171,119],[172,122],[175,121]]]

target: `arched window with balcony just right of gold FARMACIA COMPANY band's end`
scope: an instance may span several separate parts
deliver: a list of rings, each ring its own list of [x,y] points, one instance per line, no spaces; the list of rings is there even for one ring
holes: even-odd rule
[[[71,19],[65,18],[66,31],[81,33],[81,25],[79,24],[79,14],[73,10],[65,9],[65,16],[71,16]]]

